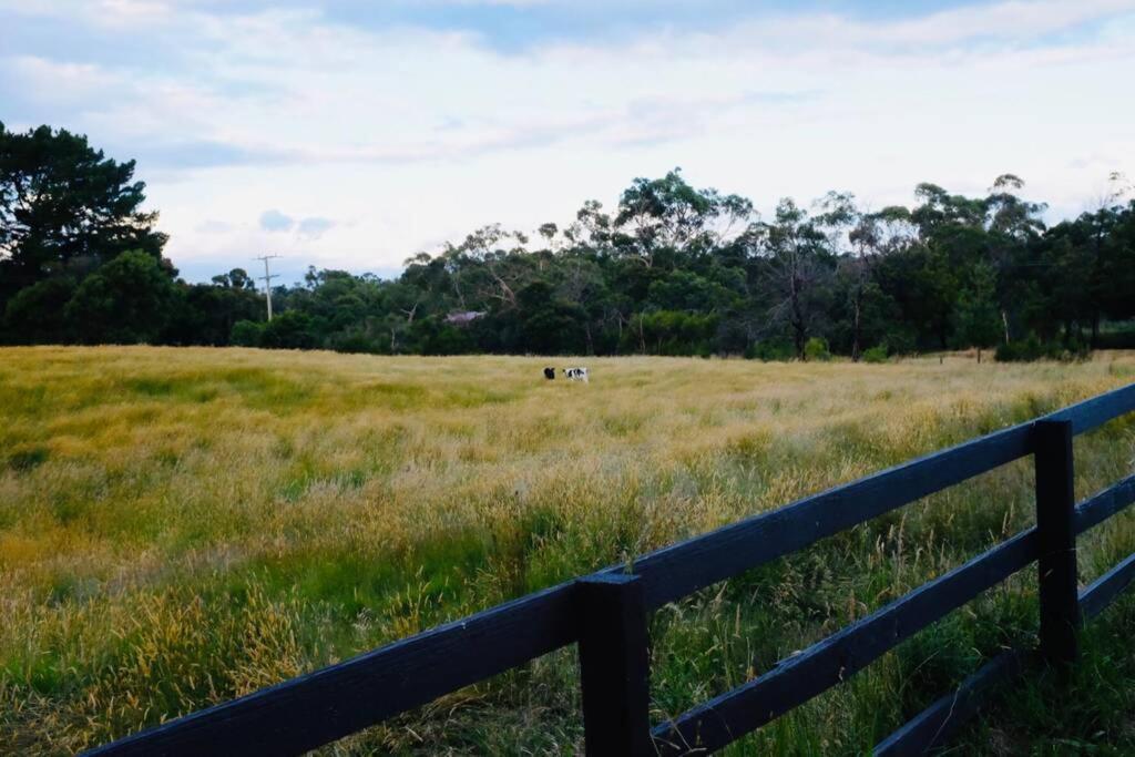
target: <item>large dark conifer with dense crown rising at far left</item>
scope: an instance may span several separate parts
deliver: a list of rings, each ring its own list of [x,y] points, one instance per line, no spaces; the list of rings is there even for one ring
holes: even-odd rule
[[[166,235],[142,210],[145,184],[86,137],[48,126],[0,124],[0,306],[62,271],[78,276],[127,250],[159,258]]]

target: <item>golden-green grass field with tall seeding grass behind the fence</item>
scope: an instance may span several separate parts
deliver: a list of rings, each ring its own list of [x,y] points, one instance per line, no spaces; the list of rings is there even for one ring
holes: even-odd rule
[[[65,754],[1135,380],[1135,355],[1003,365],[0,350],[0,750]],[[1076,443],[1077,494],[1135,421]],[[1029,461],[670,605],[674,715],[1032,522]],[[1083,537],[1090,580],[1135,550]],[[729,754],[861,754],[1036,625],[1035,571]],[[957,754],[1135,751],[1135,603]],[[328,754],[572,754],[571,649]]]

